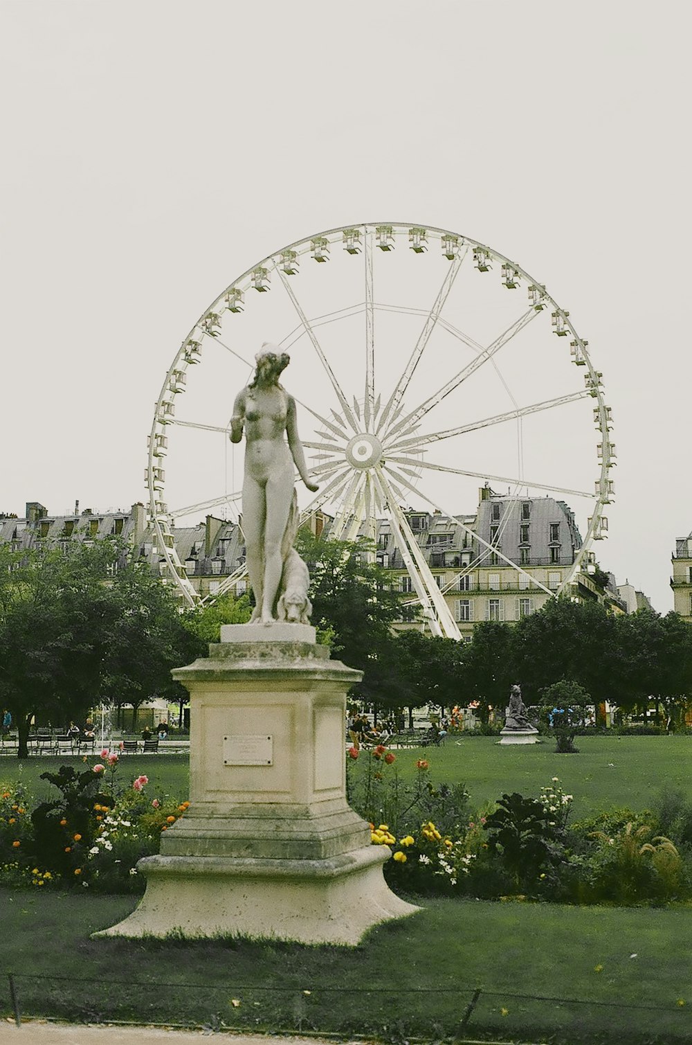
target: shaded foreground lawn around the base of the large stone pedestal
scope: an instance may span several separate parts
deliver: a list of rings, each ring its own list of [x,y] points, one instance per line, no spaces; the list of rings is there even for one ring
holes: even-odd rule
[[[236,1028],[431,1039],[458,1029],[480,988],[469,1037],[574,1045],[617,1028],[619,1043],[690,1040],[692,909],[432,900],[355,949],[90,938],[134,903],[0,890],[1,971],[15,974],[25,1016],[202,1024],[217,1014]]]

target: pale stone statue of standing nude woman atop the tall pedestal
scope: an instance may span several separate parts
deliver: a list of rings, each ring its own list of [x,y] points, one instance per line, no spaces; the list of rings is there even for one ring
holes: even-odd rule
[[[279,384],[290,357],[265,343],[255,356],[253,380],[236,396],[231,419],[231,442],[239,443],[245,431],[243,518],[249,583],[255,593],[253,621],[272,624],[282,594],[282,577],[292,560],[305,571],[293,541],[297,532],[294,468],[307,488],[310,482],[305,454],[297,435],[295,401]],[[284,434],[286,438],[284,438]],[[307,599],[307,590],[306,590]],[[289,620],[293,620],[289,616]]]

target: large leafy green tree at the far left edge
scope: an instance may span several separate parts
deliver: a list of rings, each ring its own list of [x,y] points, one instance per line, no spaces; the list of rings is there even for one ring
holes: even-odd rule
[[[0,548],[0,702],[20,758],[34,717],[65,724],[103,699],[172,695],[170,669],[199,649],[172,593],[121,542]]]

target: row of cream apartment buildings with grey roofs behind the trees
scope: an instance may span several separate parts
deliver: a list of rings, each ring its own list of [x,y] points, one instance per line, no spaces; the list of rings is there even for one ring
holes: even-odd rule
[[[560,589],[581,547],[574,513],[565,502],[550,496],[522,500],[497,494],[486,486],[479,491],[473,514],[449,518],[410,507],[404,511],[466,641],[481,621],[516,622],[540,609]],[[328,515],[316,513],[310,525],[314,533],[328,534],[330,521]],[[140,503],[108,512],[79,510],[77,503],[71,513],[51,515],[39,502],[31,502],[23,517],[0,513],[0,542],[15,551],[45,541],[65,545],[109,536],[127,541],[164,582],[174,583]],[[197,526],[175,528],[173,539],[185,575],[202,599],[213,598],[224,579],[244,563],[237,522],[207,515]],[[376,545],[378,563],[401,593],[398,627],[421,628],[413,583],[387,519],[378,520]],[[675,608],[692,620],[692,535],[677,541],[673,571]],[[246,581],[236,580],[232,590],[242,594]],[[628,582],[618,588],[612,575],[598,570],[593,552],[581,563],[569,591],[572,598],[598,600],[614,612],[634,612],[648,605],[646,597]]]

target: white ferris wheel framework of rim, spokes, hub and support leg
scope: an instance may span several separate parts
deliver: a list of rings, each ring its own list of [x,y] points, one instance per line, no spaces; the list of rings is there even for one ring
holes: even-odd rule
[[[393,249],[398,238],[406,238],[408,246],[416,254],[424,253],[432,241],[437,240],[439,241],[443,254],[450,262],[435,301],[428,310],[404,306],[382,306],[375,302],[373,281],[374,251],[378,248],[382,251]],[[315,333],[315,327],[319,326],[321,322],[330,322],[334,318],[338,319],[338,316],[331,315],[330,317],[318,317],[310,320],[305,315],[290,280],[290,277],[296,274],[300,259],[303,255],[309,254],[316,261],[326,261],[329,258],[330,247],[334,243],[341,245],[350,254],[362,252],[364,256],[364,303],[362,306],[354,306],[351,309],[342,310],[343,316],[353,315],[354,310],[364,311],[365,314],[364,394],[362,402],[359,403],[354,399],[353,404],[349,403],[342,392]],[[492,269],[494,262],[498,263],[501,266],[503,284],[507,288],[514,289],[521,283],[525,283],[529,295],[529,307],[514,324],[486,346],[478,345],[463,332],[457,330],[443,315],[444,306],[454,279],[469,255],[473,259],[473,264],[480,272],[486,272]],[[239,493],[225,494],[196,505],[189,505],[177,511],[169,511],[164,500],[165,471],[163,469],[163,460],[167,454],[167,427],[168,425],[175,424],[225,434],[230,432],[230,426],[223,428],[216,425],[176,420],[175,399],[185,391],[187,370],[191,366],[198,364],[201,359],[205,339],[213,338],[218,341],[221,333],[221,316],[224,310],[231,312],[242,311],[245,293],[252,288],[258,292],[265,292],[268,289],[270,279],[275,274],[279,277],[280,282],[288,294],[299,318],[297,327],[281,342],[281,345],[288,347],[295,336],[302,336],[307,333],[315,355],[329,378],[338,403],[338,409],[331,410],[329,417],[317,413],[309,404],[302,404],[321,425],[321,431],[318,433],[320,441],[308,440],[304,441],[303,444],[309,449],[318,451],[320,455],[320,463],[310,469],[310,474],[319,482],[326,483],[326,486],[323,487],[317,496],[306,507],[303,517],[307,518],[326,502],[336,502],[338,500],[339,509],[330,528],[330,536],[335,539],[349,540],[353,540],[360,532],[364,532],[366,536],[374,539],[376,536],[377,518],[382,517],[382,515],[388,517],[397,547],[411,578],[415,601],[421,604],[424,621],[433,634],[446,635],[456,640],[460,638],[459,629],[447,605],[444,590],[438,587],[415,539],[415,535],[411,531],[406,516],[400,507],[400,502],[407,500],[410,494],[425,501],[433,510],[437,510],[444,517],[453,520],[456,526],[461,526],[464,531],[472,534],[473,539],[483,548],[482,557],[486,557],[491,553],[496,555],[499,559],[511,565],[519,574],[528,577],[534,586],[543,588],[550,596],[558,596],[565,591],[572,584],[577,572],[581,570],[592,542],[602,539],[607,535],[607,519],[603,515],[603,507],[612,503],[614,492],[614,484],[610,479],[610,471],[615,464],[616,457],[615,446],[611,438],[613,427],[612,411],[605,404],[602,374],[600,371],[595,370],[592,364],[588,351],[588,342],[579,336],[573,326],[569,312],[559,307],[557,302],[547,293],[545,285],[535,281],[525,270],[498,251],[460,233],[449,232],[445,229],[432,228],[430,226],[388,222],[342,226],[337,229],[330,229],[327,232],[297,240],[270,254],[259,263],[247,269],[238,279],[226,286],[214,299],[209,308],[201,315],[183,340],[168,369],[157,400],[153,422],[148,437],[148,465],[145,480],[149,492],[149,521],[156,533],[158,548],[164,556],[166,570],[180,588],[184,600],[190,606],[194,606],[209,600],[210,597],[204,600],[187,576],[185,565],[181,561],[174,545],[174,518],[189,514],[192,511],[228,505],[230,502],[238,500]],[[374,312],[376,308],[380,307],[389,307],[391,310],[417,314],[424,318],[423,329],[406,367],[399,377],[393,392],[384,403],[381,397],[377,395],[375,386]],[[419,422],[434,405],[459,387],[479,367],[490,361],[538,312],[547,308],[551,311],[553,332],[560,338],[569,339],[572,362],[577,366],[586,368],[583,390],[558,396],[554,399],[544,400],[543,402],[532,403],[528,407],[517,407],[515,410],[505,412],[504,414],[484,418],[482,421],[472,424],[459,425],[457,428],[432,434],[416,434]],[[430,335],[436,325],[444,327],[454,336],[472,347],[477,352],[477,355],[475,359],[464,366],[434,395],[429,396],[413,411],[405,413],[403,409],[403,396],[413,372],[424,355]],[[244,358],[229,345],[224,345],[223,347],[237,356],[248,369],[252,368],[249,359]],[[594,404],[594,422],[600,433],[601,439],[598,444],[599,474],[595,482],[595,492],[593,494],[581,490],[569,490],[554,485],[532,482],[522,477],[490,475],[460,468],[429,464],[421,459],[420,455],[423,447],[429,443],[440,439],[454,438],[455,436],[462,435],[464,432],[501,423],[506,420],[520,419],[528,414],[550,410],[586,396],[591,396],[596,400]],[[300,402],[300,400],[297,401]],[[556,589],[545,587],[535,577],[527,574],[520,564],[502,555],[496,544],[491,544],[483,540],[478,533],[467,527],[458,516],[450,514],[447,510],[444,510],[439,505],[431,501],[424,491],[419,489],[414,482],[415,478],[420,475],[421,470],[425,468],[450,472],[452,474],[475,477],[485,482],[514,483],[516,489],[520,487],[543,489],[567,495],[574,494],[593,497],[594,507],[588,520],[588,528],[581,547],[576,551],[571,567],[566,572],[559,586]],[[455,570],[454,579],[457,576],[468,573],[470,568],[473,568],[477,564],[475,562],[471,566]],[[244,576],[245,567],[241,565],[220,582],[217,591],[212,598],[218,598],[219,595],[234,587],[238,580]],[[453,582],[454,580],[451,583]],[[447,587],[449,588],[450,584]]]

